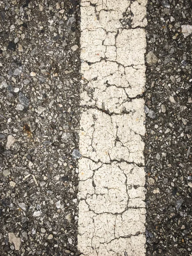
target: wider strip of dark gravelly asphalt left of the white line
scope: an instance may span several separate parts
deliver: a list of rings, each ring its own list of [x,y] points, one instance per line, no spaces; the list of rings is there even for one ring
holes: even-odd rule
[[[79,254],[79,20],[79,1],[0,1],[1,256]]]

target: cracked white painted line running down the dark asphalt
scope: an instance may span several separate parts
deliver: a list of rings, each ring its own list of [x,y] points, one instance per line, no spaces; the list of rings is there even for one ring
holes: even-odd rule
[[[145,255],[146,0],[81,1],[78,249]],[[120,21],[128,15],[130,28]],[[130,13],[130,17],[129,17]]]

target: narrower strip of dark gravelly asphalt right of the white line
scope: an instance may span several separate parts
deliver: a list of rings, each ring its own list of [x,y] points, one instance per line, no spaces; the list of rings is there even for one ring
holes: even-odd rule
[[[158,62],[146,72],[146,255],[191,256],[192,2],[151,0],[147,12]]]

